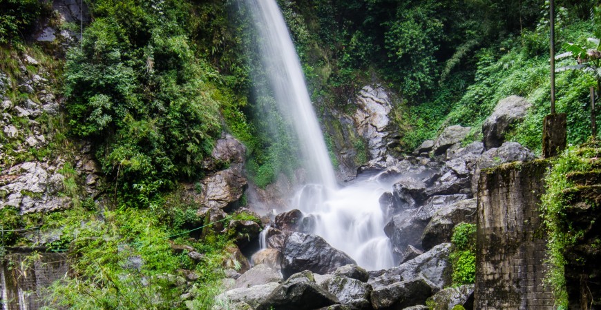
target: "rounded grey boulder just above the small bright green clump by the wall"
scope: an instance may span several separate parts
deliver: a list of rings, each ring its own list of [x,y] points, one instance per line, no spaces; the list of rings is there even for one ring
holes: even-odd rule
[[[462,222],[475,223],[476,199],[460,200],[439,209],[421,236],[421,246],[425,250],[435,245],[450,242],[453,228]]]

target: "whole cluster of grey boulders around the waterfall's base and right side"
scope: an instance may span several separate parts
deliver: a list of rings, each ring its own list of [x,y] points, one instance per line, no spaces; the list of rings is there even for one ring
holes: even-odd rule
[[[450,126],[412,156],[384,154],[358,169],[376,170],[381,178],[401,176],[380,198],[397,267],[369,272],[357,267],[311,234],[311,217],[287,211],[265,234],[268,249],[254,256],[257,265],[226,281],[228,290],[215,309],[428,309],[426,301],[435,309],[456,304],[470,309],[473,285],[450,288],[452,231],[459,223],[475,223],[473,196],[482,169],[535,158],[519,143],[504,141],[528,107],[517,96],[499,102],[484,124],[483,142],[462,145],[471,129]],[[376,151],[374,145],[370,150]]]

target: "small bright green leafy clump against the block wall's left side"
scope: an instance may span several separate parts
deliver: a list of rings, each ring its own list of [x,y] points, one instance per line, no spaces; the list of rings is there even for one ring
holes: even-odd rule
[[[461,223],[451,237],[452,285],[474,284],[476,277],[476,225]]]

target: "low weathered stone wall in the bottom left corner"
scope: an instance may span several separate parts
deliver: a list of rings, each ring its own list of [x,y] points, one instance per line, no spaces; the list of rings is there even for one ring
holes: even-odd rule
[[[35,310],[46,305],[44,289],[68,272],[65,254],[8,254],[0,264],[0,309]]]

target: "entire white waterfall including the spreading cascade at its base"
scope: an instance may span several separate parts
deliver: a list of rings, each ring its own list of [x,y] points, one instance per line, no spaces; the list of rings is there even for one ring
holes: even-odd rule
[[[311,184],[290,208],[315,219],[315,234],[345,251],[366,269],[388,269],[394,260],[383,227],[379,197],[392,183],[376,176],[338,188],[323,134],[313,110],[298,55],[275,0],[246,0],[256,23],[263,65],[269,72],[280,113],[288,115],[300,141]]]

